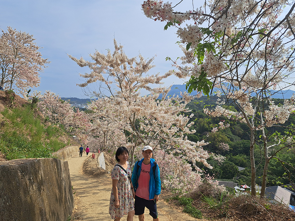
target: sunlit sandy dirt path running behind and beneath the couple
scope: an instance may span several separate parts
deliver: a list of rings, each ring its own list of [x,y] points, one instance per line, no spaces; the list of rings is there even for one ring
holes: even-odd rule
[[[83,154],[84,155],[84,154]],[[91,156],[91,155],[90,155]],[[97,221],[112,220],[109,215],[109,199],[112,189],[112,179],[109,175],[99,178],[90,178],[82,173],[82,164],[86,155],[68,159],[71,182],[75,193],[76,207],[75,220]],[[161,196],[161,195],[160,195]],[[152,221],[152,217],[145,210],[145,220]],[[189,215],[171,209],[167,202],[161,199],[158,202],[158,213],[161,221],[195,221]],[[124,216],[121,221],[126,221]],[[134,216],[137,221],[137,216]]]

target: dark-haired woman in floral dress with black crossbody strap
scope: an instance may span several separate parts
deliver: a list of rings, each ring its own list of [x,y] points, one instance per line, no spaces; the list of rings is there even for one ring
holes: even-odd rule
[[[113,188],[109,206],[109,214],[115,221],[119,221],[123,215],[127,214],[127,221],[132,221],[134,216],[133,197],[135,197],[135,192],[129,179],[131,168],[127,161],[128,156],[126,147],[122,146],[117,149],[116,160],[118,163],[112,170]]]

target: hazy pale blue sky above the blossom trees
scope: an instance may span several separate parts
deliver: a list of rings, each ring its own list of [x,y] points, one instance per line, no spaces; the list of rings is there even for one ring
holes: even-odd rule
[[[61,97],[87,98],[77,83],[78,73],[89,72],[73,62],[67,54],[84,57],[96,50],[113,50],[113,38],[124,45],[128,57],[139,53],[156,65],[150,73],[164,74],[172,69],[167,56],[176,59],[182,55],[175,44],[175,28],[164,31],[163,22],[148,19],[141,10],[143,0],[0,0],[0,29],[11,26],[18,31],[33,34],[43,58],[51,61],[40,73],[40,87],[33,90],[51,90]],[[177,3],[175,1],[174,3]],[[194,1],[199,7],[203,1]],[[172,4],[173,5],[173,4]],[[182,8],[181,8],[182,7]],[[185,1],[177,11],[191,9]],[[171,76],[165,85],[183,84],[184,80]]]

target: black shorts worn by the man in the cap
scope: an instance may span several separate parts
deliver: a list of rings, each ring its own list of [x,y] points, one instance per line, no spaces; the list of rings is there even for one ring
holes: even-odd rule
[[[150,215],[154,218],[158,218],[157,204],[153,199],[147,200],[135,195],[134,210],[135,215],[142,215],[145,213],[145,207],[150,210]]]

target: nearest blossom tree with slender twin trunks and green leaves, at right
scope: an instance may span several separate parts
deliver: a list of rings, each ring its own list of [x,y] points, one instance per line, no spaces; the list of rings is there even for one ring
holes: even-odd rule
[[[144,14],[174,26],[184,52],[181,64],[173,61],[175,74],[191,77],[189,92],[222,95],[212,116],[227,116],[244,122],[250,129],[252,194],[256,194],[254,145],[262,133],[264,156],[262,194],[266,184],[269,151],[265,128],[284,123],[294,111],[294,99],[274,105],[271,96],[294,85],[295,1],[205,1],[204,7],[174,11],[172,3],[147,0]],[[172,60],[171,58],[168,58]],[[276,90],[276,91],[274,91]],[[224,99],[224,102],[223,100]],[[224,107],[234,103],[238,111]]]

